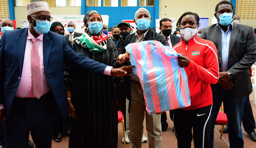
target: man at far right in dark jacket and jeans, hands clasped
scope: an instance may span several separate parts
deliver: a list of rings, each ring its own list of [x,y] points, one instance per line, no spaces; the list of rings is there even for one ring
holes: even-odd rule
[[[229,1],[219,2],[214,15],[218,24],[205,27],[200,35],[215,44],[219,62],[219,80],[211,85],[213,107],[209,145],[213,148],[214,125],[223,101],[230,148],[241,148],[243,107],[246,96],[252,92],[249,69],[256,59],[256,39],[253,27],[233,23],[234,6]]]

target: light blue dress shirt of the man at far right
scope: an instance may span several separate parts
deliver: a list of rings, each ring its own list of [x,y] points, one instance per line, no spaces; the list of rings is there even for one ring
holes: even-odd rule
[[[224,32],[221,27],[217,24],[217,28],[221,30],[221,55],[222,55],[222,71],[228,70],[228,51],[229,51],[229,42],[230,34],[233,29],[233,22],[228,26],[228,30]]]

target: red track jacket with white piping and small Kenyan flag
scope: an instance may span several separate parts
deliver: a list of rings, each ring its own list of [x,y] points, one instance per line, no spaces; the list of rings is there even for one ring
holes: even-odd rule
[[[216,84],[219,78],[217,50],[213,42],[200,39],[197,35],[188,41],[179,42],[173,49],[190,59],[185,71],[188,76],[191,106],[182,108],[191,110],[213,103],[210,84]]]

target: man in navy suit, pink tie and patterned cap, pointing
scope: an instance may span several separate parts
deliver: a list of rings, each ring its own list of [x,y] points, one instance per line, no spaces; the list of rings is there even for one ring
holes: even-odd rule
[[[77,54],[65,36],[49,31],[47,2],[27,10],[30,27],[6,31],[0,40],[0,122],[6,147],[27,148],[30,132],[37,148],[51,148],[57,105],[62,115],[68,110],[63,62],[100,76],[130,76],[131,66],[113,69]]]

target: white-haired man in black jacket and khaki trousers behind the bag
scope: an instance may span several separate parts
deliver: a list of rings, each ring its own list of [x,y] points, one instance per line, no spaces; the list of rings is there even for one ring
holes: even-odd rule
[[[137,25],[138,30],[126,37],[124,46],[130,43],[148,40],[159,41],[166,46],[166,40],[163,36],[150,29],[151,20],[152,18],[150,17],[150,13],[145,8],[137,10],[134,17],[134,23]],[[140,148],[141,142],[145,142],[146,137],[143,134],[143,121],[146,115],[146,129],[149,139],[149,147],[161,148],[161,116],[156,114],[149,115],[146,112],[143,91],[137,75],[134,74],[133,77],[126,78],[125,81],[126,131],[132,147]]]

